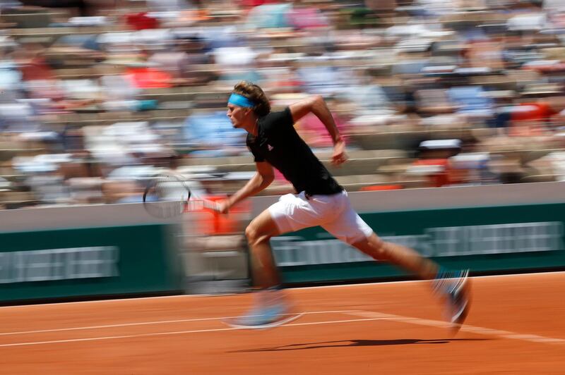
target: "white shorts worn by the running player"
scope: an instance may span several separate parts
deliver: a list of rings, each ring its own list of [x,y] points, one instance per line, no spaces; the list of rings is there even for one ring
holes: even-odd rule
[[[333,195],[306,197],[287,194],[269,208],[280,233],[321,226],[329,233],[348,244],[364,240],[373,233],[371,227],[351,207],[347,192]]]

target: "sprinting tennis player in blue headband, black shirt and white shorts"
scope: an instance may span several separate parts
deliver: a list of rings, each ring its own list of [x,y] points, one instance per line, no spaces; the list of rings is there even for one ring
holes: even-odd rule
[[[445,297],[448,321],[458,328],[470,306],[468,271],[440,269],[408,247],[381,240],[352,209],[347,192],[295,131],[295,122],[308,113],[314,113],[332,137],[332,163],[343,164],[347,160],[345,143],[322,97],[309,97],[283,111],[270,111],[261,87],[239,82],[227,102],[227,117],[234,128],[248,133],[246,144],[254,156],[257,172],[244,187],[220,202],[218,210],[227,213],[232,205],[268,187],[273,182],[273,167],[283,173],[297,192],[280,197],[247,226],[245,235],[251,251],[252,273],[259,291],[251,312],[227,324],[239,328],[270,328],[299,316],[281,290],[269,240],[283,233],[321,226],[335,238],[374,259],[391,262],[422,279],[433,280],[434,290]]]

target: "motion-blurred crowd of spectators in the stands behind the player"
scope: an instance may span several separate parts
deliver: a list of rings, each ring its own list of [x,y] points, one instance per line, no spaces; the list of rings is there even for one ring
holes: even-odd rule
[[[0,25],[4,209],[139,202],[168,170],[237,190],[239,80],[323,95],[350,191],[565,179],[565,0],[0,0]]]

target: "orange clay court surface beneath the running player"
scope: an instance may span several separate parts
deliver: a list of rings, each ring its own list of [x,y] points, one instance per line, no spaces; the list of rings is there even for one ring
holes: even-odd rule
[[[236,330],[250,295],[0,308],[0,374],[565,374],[565,273],[473,278],[453,336],[427,283],[289,290],[304,316]]]

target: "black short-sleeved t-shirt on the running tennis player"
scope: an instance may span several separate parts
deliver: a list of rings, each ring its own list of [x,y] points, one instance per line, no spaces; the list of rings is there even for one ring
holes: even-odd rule
[[[297,192],[331,195],[343,190],[296,133],[288,107],[259,118],[257,137],[249,133],[246,143],[256,162],[268,161]]]

